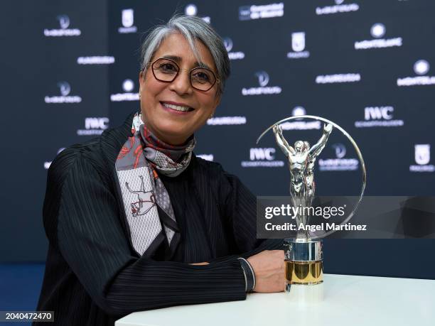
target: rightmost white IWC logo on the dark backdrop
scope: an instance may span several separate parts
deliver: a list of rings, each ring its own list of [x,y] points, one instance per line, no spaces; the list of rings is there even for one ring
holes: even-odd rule
[[[365,107],[364,120],[355,121],[357,128],[403,126],[403,120],[393,119],[394,107]]]

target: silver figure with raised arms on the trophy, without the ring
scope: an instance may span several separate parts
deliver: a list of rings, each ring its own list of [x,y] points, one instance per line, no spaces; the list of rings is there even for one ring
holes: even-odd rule
[[[326,141],[333,129],[332,124],[323,124],[323,135],[316,144],[310,147],[308,141],[296,141],[294,148],[289,145],[282,134],[281,126],[276,125],[273,131],[279,148],[289,160],[290,195],[294,207],[311,207],[316,191],[314,183],[314,162],[326,146]],[[308,215],[299,212],[296,215],[296,224],[308,224]],[[308,232],[301,229],[296,234],[297,240],[309,239]]]

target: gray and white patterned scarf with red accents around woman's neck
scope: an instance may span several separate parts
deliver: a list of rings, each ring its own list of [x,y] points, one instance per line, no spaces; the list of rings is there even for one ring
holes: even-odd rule
[[[193,137],[183,146],[163,143],[146,129],[141,114],[135,114],[131,136],[122,146],[115,167],[131,243],[138,254],[152,256],[163,241],[168,241],[170,256],[175,251],[180,232],[157,171],[176,177],[188,167],[194,147]]]

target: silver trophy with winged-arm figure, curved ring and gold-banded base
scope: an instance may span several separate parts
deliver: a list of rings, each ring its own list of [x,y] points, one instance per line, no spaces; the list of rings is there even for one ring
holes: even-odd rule
[[[296,141],[294,146],[290,146],[282,134],[280,124],[284,121],[304,118],[323,121],[323,134],[313,146],[310,146],[308,141]],[[360,198],[353,211],[344,220],[343,223],[345,223],[355,214],[358,205],[363,199],[366,172],[360,149],[353,138],[350,137],[344,129],[320,116],[292,116],[276,122],[257,139],[258,143],[267,131],[270,129],[274,131],[276,143],[289,162],[291,205],[301,207],[295,217],[296,237],[293,239],[285,239],[286,293],[289,293],[288,298],[296,300],[299,303],[316,303],[323,299],[322,241],[317,237],[314,237],[316,239],[312,239],[305,228],[305,226],[309,224],[309,215],[306,214],[309,210],[304,210],[304,207],[311,207],[312,205],[316,192],[316,183],[314,182],[313,173],[314,163],[323,148],[325,148],[326,142],[334,127],[340,130],[353,144],[360,158],[363,172],[363,186],[361,188]],[[326,235],[328,235],[328,233],[323,234],[323,236]]]

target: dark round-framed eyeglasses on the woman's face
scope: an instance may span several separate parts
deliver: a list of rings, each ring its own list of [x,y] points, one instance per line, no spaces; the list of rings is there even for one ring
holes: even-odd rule
[[[148,63],[147,65],[151,65],[153,75],[159,82],[173,82],[180,70],[187,70],[181,69],[175,61],[166,58],[159,58],[154,63]],[[216,82],[219,82],[215,73],[205,67],[195,67],[188,70],[188,73],[190,85],[202,92],[207,92]]]

